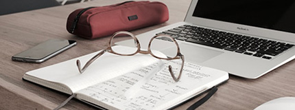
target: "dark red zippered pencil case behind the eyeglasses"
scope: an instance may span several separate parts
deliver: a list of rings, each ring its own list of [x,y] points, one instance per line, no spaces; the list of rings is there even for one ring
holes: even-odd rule
[[[169,12],[164,3],[126,1],[71,12],[67,19],[67,31],[86,39],[95,39],[121,30],[130,31],[164,23],[168,19]]]

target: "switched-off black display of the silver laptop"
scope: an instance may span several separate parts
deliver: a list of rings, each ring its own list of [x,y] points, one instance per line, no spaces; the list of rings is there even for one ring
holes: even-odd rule
[[[295,33],[294,0],[198,0],[193,17]]]

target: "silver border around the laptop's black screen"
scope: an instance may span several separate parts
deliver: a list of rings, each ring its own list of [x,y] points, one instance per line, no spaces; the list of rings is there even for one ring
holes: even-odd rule
[[[193,23],[193,25],[203,26],[204,28],[213,28],[215,30],[223,30],[234,32],[237,34],[246,34],[249,36],[257,36],[265,39],[274,39],[287,43],[295,43],[295,34],[291,32],[283,32],[278,30],[270,30],[266,28],[258,28],[250,25],[241,25],[237,23],[229,23],[212,19],[204,19],[201,17],[193,17],[198,0],[192,0],[189,10],[185,17],[185,22]]]

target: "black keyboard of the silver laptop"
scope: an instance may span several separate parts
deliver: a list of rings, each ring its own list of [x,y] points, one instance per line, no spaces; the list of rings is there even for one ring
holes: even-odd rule
[[[259,39],[252,36],[211,30],[192,25],[182,25],[158,34],[168,34],[174,39],[181,41],[207,45],[266,59],[271,59],[294,46],[290,43]]]

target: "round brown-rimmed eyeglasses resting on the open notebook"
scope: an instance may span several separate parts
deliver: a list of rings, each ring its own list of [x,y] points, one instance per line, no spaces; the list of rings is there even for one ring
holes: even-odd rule
[[[134,47],[135,47],[134,50],[128,50],[128,51],[124,50],[124,52],[122,52],[120,50],[115,50],[114,48],[112,48],[112,45],[115,44],[115,42],[113,41],[114,38],[122,37],[122,36],[132,37],[132,39],[134,40]],[[172,56],[167,56],[167,55],[159,56],[158,54],[155,54],[156,52],[153,50],[153,47],[158,46],[158,44],[156,44],[156,42],[158,42],[158,41],[160,41],[160,43],[162,41],[168,41],[169,43],[172,43],[172,45],[174,45],[173,50],[174,50],[175,54],[172,55]],[[141,45],[139,44],[139,40],[137,39],[136,36],[134,36],[134,34],[132,34],[130,32],[120,31],[120,32],[116,32],[115,34],[113,34],[113,36],[111,36],[110,41],[108,42],[108,47],[106,48],[106,50],[102,50],[102,52],[99,52],[98,54],[93,56],[89,61],[87,61],[87,63],[84,65],[83,68],[81,68],[80,61],[77,60],[77,66],[78,66],[80,74],[82,74],[85,71],[85,69],[89,65],[91,65],[91,63],[93,63],[93,61],[95,61],[97,58],[99,58],[99,56],[102,56],[102,54],[104,54],[105,52],[110,52],[112,54],[117,54],[117,55],[120,55],[120,56],[133,56],[133,55],[138,54],[138,53],[140,53],[140,54],[151,54],[155,58],[158,58],[158,59],[161,59],[161,60],[167,60],[167,61],[180,59],[181,60],[181,65],[180,65],[180,70],[179,70],[178,76],[176,76],[176,74],[174,74],[172,66],[171,65],[168,66],[169,73],[172,76],[173,80],[176,81],[176,82],[178,82],[180,80],[183,65],[185,63],[185,56],[180,54],[179,45],[176,42],[176,40],[172,38],[172,36],[168,36],[168,35],[165,35],[165,34],[158,34],[158,35],[152,37],[152,39],[150,40],[150,43],[148,44],[147,51],[144,51],[144,50],[141,50]]]

